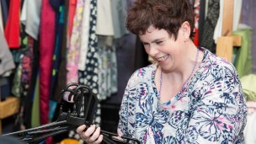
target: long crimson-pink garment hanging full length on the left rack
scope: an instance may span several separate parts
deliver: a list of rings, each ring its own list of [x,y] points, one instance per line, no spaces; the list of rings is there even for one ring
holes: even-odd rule
[[[40,124],[49,123],[49,93],[51,82],[52,56],[55,45],[56,13],[49,0],[42,0],[40,18]],[[46,143],[51,143],[47,139]]]

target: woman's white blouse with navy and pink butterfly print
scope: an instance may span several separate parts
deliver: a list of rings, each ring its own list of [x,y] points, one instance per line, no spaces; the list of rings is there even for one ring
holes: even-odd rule
[[[118,133],[141,143],[243,143],[247,107],[235,67],[210,51],[186,87],[161,104],[157,64],[131,76],[120,107]]]

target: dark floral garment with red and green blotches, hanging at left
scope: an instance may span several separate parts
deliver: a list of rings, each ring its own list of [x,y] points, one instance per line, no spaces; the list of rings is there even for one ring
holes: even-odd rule
[[[31,107],[33,103],[33,91],[35,82],[35,68],[38,66],[36,62],[38,56],[35,40],[25,34],[24,25],[21,24],[20,35],[21,45],[17,50],[13,50],[13,56],[17,59],[18,67],[13,78],[12,93],[21,99],[19,115],[16,118],[15,125],[19,126],[19,131],[31,128]],[[14,52],[15,51],[15,52]]]

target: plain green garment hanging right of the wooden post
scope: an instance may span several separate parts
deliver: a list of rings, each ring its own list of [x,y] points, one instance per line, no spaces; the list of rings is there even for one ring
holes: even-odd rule
[[[242,36],[242,45],[235,50],[236,55],[234,66],[237,69],[238,76],[243,77],[253,72],[253,58],[252,58],[252,34],[251,28],[238,29],[233,32],[233,35]]]

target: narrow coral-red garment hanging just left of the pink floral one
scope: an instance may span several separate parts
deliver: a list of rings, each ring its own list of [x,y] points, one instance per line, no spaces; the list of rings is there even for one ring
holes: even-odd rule
[[[69,0],[69,6],[68,6],[68,38],[70,39],[72,34],[72,27],[73,27],[73,19],[75,16],[77,7],[77,0]]]

